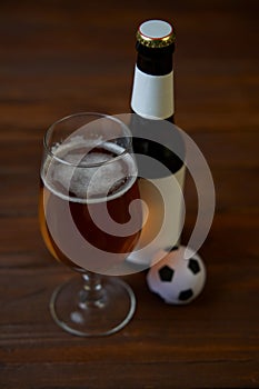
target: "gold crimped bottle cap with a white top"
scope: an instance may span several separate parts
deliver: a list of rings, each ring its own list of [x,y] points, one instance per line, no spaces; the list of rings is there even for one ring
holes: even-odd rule
[[[148,20],[140,24],[137,40],[148,48],[165,48],[176,41],[171,24],[163,20]]]

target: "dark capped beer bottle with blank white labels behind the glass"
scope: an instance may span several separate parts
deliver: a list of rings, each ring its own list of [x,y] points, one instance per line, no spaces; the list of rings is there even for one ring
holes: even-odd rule
[[[148,206],[148,212],[137,249],[147,245],[150,249],[141,255],[130,255],[129,260],[149,266],[158,250],[178,247],[182,221],[185,144],[173,124],[168,128],[171,131],[168,139],[175,143],[179,153],[159,141],[153,141],[150,132],[153,131],[157,136],[161,122],[173,123],[173,27],[163,20],[148,20],[140,24],[136,38],[137,63],[131,94],[131,111],[135,113],[131,119],[133,149],[137,162],[139,156],[146,154],[159,160],[167,168],[167,172],[162,173],[160,169],[157,171],[146,166],[146,178],[140,176],[139,179],[141,198]],[[165,140],[165,132],[162,137]],[[138,163],[141,164],[140,159]],[[168,203],[170,209],[165,209]]]

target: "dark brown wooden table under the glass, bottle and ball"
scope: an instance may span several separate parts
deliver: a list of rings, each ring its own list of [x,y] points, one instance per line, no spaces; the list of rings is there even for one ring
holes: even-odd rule
[[[0,388],[259,388],[259,7],[257,1],[86,0],[0,3]],[[203,152],[217,209],[200,249],[208,280],[185,307],[163,303],[146,273],[127,277],[138,308],[107,338],[52,321],[71,276],[38,228],[44,130],[77,111],[129,112],[135,30],[177,28],[177,122]],[[197,211],[186,184],[187,243]]]

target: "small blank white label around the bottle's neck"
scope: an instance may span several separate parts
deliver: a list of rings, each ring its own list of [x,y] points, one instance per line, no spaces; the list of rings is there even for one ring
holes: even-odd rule
[[[143,118],[170,118],[175,111],[173,71],[166,76],[151,76],[136,66],[131,108]]]

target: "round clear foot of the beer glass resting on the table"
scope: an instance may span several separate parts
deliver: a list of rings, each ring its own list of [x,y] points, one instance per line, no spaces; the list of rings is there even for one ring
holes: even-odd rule
[[[132,318],[135,293],[118,278],[98,278],[93,289],[90,279],[91,276],[77,276],[60,285],[50,300],[51,316],[63,330],[76,336],[114,333]]]

